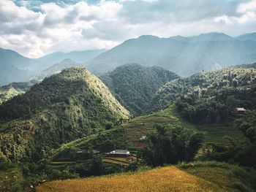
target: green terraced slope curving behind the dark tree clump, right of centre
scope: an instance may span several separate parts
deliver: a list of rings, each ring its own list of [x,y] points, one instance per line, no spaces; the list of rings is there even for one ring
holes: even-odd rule
[[[165,110],[154,112],[151,115],[140,116],[124,123],[123,126],[126,130],[127,142],[130,145],[136,145],[140,137],[154,131],[154,123],[170,123],[205,131],[205,142],[225,143],[227,142],[223,138],[225,136],[235,139],[243,138],[241,131],[238,131],[234,126],[225,126],[222,124],[195,125],[189,123],[178,115],[174,105],[170,105]]]

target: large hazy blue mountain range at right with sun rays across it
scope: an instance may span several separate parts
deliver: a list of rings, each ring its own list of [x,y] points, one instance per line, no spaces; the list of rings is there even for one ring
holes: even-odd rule
[[[162,66],[181,76],[212,71],[256,61],[256,34],[230,37],[222,33],[195,37],[159,38],[144,35],[129,39],[101,53],[86,66],[95,74],[103,74],[122,64]]]

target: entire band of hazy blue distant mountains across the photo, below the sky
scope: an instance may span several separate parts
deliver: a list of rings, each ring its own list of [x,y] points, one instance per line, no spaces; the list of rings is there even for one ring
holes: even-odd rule
[[[195,37],[159,38],[144,35],[128,39],[113,49],[51,53],[41,58],[23,57],[12,50],[0,50],[0,85],[27,81],[45,69],[69,58],[86,66],[97,75],[111,72],[116,66],[136,63],[142,66],[161,66],[180,76],[212,71],[256,61],[256,34],[230,37],[223,33],[200,34]],[[60,66],[56,64],[56,66]],[[58,70],[64,69],[60,67]],[[68,65],[72,66],[72,65]]]

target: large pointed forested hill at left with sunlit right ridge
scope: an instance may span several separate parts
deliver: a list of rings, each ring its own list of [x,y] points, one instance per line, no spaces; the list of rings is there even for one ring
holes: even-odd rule
[[[0,158],[38,161],[51,148],[129,118],[84,68],[64,69],[0,106]]]

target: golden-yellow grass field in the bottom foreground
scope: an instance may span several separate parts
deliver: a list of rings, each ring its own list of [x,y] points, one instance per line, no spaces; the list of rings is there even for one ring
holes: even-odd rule
[[[223,191],[218,185],[183,172],[175,166],[134,174],[87,179],[56,180],[37,187],[39,192],[61,191]]]

